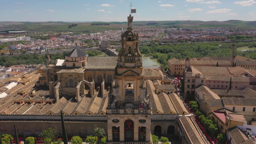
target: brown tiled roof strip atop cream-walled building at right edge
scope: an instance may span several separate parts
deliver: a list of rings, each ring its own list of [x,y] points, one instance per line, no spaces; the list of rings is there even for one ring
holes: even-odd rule
[[[221,98],[224,105],[247,105],[255,106],[256,99],[254,98]]]

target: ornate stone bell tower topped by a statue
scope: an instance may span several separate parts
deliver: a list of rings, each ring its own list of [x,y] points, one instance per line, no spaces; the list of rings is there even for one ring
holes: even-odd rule
[[[133,16],[128,16],[127,31],[121,35],[115,79],[109,95],[108,144],[143,142],[152,140],[150,97],[144,84],[144,68],[139,51],[138,33],[132,30]]]

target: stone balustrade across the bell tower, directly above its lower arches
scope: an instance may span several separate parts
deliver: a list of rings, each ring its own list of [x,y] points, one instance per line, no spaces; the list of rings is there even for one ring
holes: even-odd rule
[[[132,108],[126,108],[126,109],[107,109],[108,114],[151,114],[151,109],[132,109]]]

